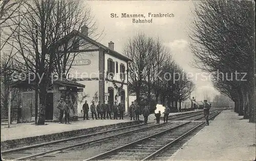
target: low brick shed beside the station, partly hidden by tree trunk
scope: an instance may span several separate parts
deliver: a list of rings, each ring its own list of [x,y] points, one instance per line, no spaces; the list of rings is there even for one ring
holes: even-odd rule
[[[16,81],[11,85],[12,88],[19,89],[22,108],[22,122],[35,120],[35,90],[33,82]],[[72,120],[78,119],[77,114],[77,99],[78,92],[83,92],[85,86],[66,78],[54,79],[53,84],[47,88],[46,98],[46,121],[58,120],[59,110],[56,108],[60,98],[68,99],[72,102],[70,117]],[[38,112],[39,112],[39,97],[38,95]]]

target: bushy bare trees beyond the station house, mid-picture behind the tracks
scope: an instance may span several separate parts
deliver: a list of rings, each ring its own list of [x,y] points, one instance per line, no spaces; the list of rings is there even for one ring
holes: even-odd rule
[[[189,98],[194,91],[195,84],[172,59],[159,38],[139,33],[127,41],[123,52],[132,60],[128,72],[129,89],[136,93],[137,102],[140,103],[144,95],[147,102],[152,103],[154,95],[155,103],[167,101],[168,106],[172,103],[177,108],[178,102]]]

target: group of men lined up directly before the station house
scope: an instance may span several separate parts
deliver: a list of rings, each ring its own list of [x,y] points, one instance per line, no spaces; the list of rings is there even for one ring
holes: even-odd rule
[[[123,101],[121,101],[118,105],[117,102],[115,101],[115,103],[113,104],[113,106],[110,105],[110,101],[108,101],[108,103],[105,103],[105,101],[103,101],[103,103],[101,103],[99,101],[99,103],[97,104],[97,106],[95,105],[95,102],[92,101],[92,104],[90,106],[89,109],[89,104],[87,103],[87,100],[84,102],[83,106],[82,106],[82,110],[83,110],[83,120],[90,120],[88,117],[88,112],[89,110],[92,113],[92,119],[94,120],[94,116],[95,119],[112,119],[111,114],[114,113],[114,119],[117,119],[117,113],[118,111],[120,112],[120,117],[119,119],[123,120],[123,113],[125,111],[125,107],[124,107],[124,103]]]

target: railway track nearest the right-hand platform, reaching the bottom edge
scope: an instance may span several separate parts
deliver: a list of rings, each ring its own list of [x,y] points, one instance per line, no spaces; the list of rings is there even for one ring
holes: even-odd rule
[[[211,113],[215,117],[219,112]],[[166,160],[179,147],[181,147],[188,138],[194,136],[196,132],[204,127],[204,122],[187,121],[175,127],[170,127],[152,136],[145,137],[135,142],[123,145],[110,151],[106,151],[88,160]],[[166,156],[168,155],[168,156]]]

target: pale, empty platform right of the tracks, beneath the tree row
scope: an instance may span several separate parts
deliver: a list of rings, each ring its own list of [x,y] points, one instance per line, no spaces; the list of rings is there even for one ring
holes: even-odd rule
[[[254,160],[255,123],[242,120],[232,110],[223,111],[209,126],[185,143],[170,160]]]

